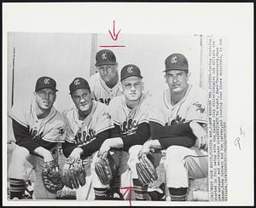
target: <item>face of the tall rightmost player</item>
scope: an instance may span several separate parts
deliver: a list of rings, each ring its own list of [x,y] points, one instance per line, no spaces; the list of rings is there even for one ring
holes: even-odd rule
[[[188,74],[181,70],[170,70],[165,75],[166,83],[173,94],[181,94],[188,87]]]

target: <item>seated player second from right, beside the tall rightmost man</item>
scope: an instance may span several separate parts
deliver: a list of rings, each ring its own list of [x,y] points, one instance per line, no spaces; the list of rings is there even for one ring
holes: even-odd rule
[[[148,199],[148,186],[142,186],[138,181],[135,166],[137,154],[150,136],[148,102],[147,95],[143,93],[143,77],[137,66],[129,64],[122,68],[120,78],[123,95],[114,97],[108,105],[114,124],[114,128],[110,130],[112,138],[103,142],[100,148],[100,152],[114,151],[116,165],[119,166],[119,176],[113,178],[113,187],[111,187],[112,184],[103,185],[98,176],[94,175],[93,186],[96,194],[104,198],[108,188],[119,193],[120,182],[121,187],[131,186],[133,183],[136,186],[134,190],[136,199]],[[114,150],[116,148],[119,150]]]

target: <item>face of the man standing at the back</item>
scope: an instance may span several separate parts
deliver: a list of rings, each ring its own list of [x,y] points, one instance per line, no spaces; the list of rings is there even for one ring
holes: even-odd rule
[[[117,64],[97,66],[97,70],[100,72],[100,76],[104,82],[108,83],[117,75]]]

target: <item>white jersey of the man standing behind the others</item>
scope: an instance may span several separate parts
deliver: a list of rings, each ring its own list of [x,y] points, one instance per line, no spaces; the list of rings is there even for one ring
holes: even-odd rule
[[[119,90],[119,83],[115,84],[113,88],[109,88],[101,78],[99,72],[90,77],[89,83],[94,99],[105,103],[106,105],[108,105],[109,101],[111,101],[113,97],[122,94]]]

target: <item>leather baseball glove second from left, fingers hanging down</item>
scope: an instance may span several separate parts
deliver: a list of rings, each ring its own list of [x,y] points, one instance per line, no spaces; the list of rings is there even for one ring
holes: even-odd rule
[[[69,157],[66,159],[66,162],[61,171],[62,182],[68,188],[76,188],[79,186],[85,185],[85,177],[86,172],[84,170],[82,159],[75,159],[73,157]]]

